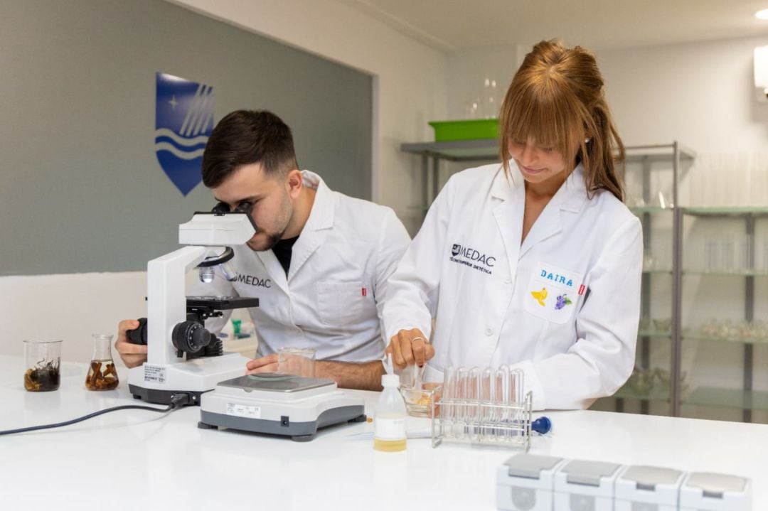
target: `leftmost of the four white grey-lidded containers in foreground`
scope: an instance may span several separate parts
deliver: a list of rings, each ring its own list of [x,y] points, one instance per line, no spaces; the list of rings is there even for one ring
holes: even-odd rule
[[[509,511],[551,511],[554,473],[566,460],[518,454],[496,470],[496,507]]]

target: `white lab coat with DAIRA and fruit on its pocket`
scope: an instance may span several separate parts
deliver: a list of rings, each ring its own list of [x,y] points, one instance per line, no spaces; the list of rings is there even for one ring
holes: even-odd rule
[[[511,179],[497,163],[445,185],[390,278],[386,336],[432,337],[425,381],[508,364],[536,410],[588,407],[634,367],[641,223],[611,193],[589,199],[579,165],[521,245],[525,186],[510,166]]]

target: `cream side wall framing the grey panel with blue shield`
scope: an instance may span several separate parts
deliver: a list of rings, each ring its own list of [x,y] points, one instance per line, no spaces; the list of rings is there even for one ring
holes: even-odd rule
[[[427,121],[445,118],[445,54],[334,0],[174,3],[374,75],[373,197],[415,233],[420,161],[399,145],[429,140]],[[21,354],[24,338],[63,338],[65,359],[88,361],[91,334],[143,315],[145,295],[144,272],[0,278],[0,310],[10,316],[0,353]]]

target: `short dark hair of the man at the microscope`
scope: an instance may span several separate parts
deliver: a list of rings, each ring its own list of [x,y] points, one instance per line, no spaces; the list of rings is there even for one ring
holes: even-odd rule
[[[251,163],[266,176],[298,168],[290,127],[270,111],[235,110],[219,121],[203,153],[203,183],[215,188]]]

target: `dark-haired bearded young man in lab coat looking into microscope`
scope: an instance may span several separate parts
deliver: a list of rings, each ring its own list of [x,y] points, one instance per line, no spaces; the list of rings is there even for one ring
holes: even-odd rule
[[[249,312],[262,356],[248,362],[249,374],[275,371],[277,348],[315,348],[318,377],[378,390],[382,297],[408,233],[392,209],[333,192],[298,168],[290,128],[276,115],[237,110],[217,124],[203,183],[230,209],[247,203],[258,230],[247,246],[233,247],[235,282],[217,278],[191,294],[260,299]],[[227,319],[209,320],[207,328],[219,331]],[[146,346],[126,340],[137,326],[118,326],[115,348],[129,367],[147,358]]]

